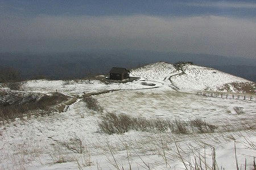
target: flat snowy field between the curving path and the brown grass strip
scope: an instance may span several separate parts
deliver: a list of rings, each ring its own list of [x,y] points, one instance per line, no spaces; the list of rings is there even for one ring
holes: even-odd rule
[[[255,120],[256,114],[254,101],[212,98],[160,89],[119,91],[95,98],[109,112],[144,118],[183,121],[202,118],[209,123],[223,121],[236,124],[241,119]],[[238,115],[234,107],[242,107],[245,114]]]

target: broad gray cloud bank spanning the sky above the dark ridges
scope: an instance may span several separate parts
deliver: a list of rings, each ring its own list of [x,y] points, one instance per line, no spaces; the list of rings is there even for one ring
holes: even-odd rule
[[[140,49],[256,56],[254,20],[223,16],[8,16],[0,20],[2,51]]]

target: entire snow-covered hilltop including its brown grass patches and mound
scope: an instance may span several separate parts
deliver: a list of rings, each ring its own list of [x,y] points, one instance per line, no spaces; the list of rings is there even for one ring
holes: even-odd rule
[[[0,169],[253,169],[254,82],[185,63],[131,76],[0,84]]]

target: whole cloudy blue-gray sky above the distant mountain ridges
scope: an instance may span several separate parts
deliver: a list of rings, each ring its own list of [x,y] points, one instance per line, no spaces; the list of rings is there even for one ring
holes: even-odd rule
[[[88,49],[255,59],[256,2],[0,0],[0,52]]]

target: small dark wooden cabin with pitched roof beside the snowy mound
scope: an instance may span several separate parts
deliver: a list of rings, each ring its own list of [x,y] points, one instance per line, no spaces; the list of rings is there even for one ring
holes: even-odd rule
[[[110,80],[125,80],[129,78],[130,71],[125,68],[113,67],[109,72]]]

